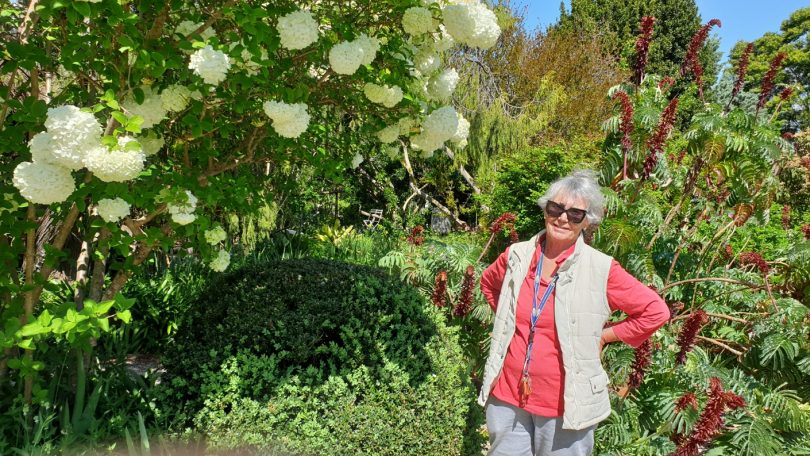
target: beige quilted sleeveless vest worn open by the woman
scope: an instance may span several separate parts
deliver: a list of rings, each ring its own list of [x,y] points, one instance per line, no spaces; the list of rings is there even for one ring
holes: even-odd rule
[[[509,248],[506,274],[492,327],[489,358],[478,402],[486,404],[515,334],[515,309],[541,231]],[[584,429],[610,415],[608,376],[599,358],[599,339],[610,316],[607,279],[612,258],[577,239],[574,253],[560,265],[554,291],[554,324],[562,349],[565,385],[563,428]]]

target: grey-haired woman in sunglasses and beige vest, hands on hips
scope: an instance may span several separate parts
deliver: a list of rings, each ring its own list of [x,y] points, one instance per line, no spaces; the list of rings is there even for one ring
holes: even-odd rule
[[[610,415],[602,347],[641,345],[669,310],[585,244],[583,230],[604,213],[592,172],[554,182],[538,204],[546,229],[510,246],[481,276],[495,322],[478,400],[490,455],[589,455],[596,424]],[[604,328],[614,310],[627,318]]]

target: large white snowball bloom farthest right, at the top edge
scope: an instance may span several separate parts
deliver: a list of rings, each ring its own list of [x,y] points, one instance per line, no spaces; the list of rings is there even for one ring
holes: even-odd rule
[[[489,49],[498,41],[498,18],[480,3],[448,5],[442,10],[447,32],[460,43]]]

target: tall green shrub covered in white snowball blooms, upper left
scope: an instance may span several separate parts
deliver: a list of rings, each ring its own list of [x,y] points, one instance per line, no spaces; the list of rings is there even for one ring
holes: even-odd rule
[[[101,302],[155,252],[225,270],[232,241],[214,219],[272,203],[259,164],[305,161],[335,178],[370,156],[336,144],[463,143],[469,123],[445,105],[458,74],[443,62],[455,42],[500,35],[483,4],[416,0],[17,2],[3,13],[2,323],[36,319],[57,271]],[[53,229],[37,238],[38,225]],[[67,251],[68,239],[90,250]],[[0,383],[18,376],[34,402],[43,347],[18,326],[0,325]]]

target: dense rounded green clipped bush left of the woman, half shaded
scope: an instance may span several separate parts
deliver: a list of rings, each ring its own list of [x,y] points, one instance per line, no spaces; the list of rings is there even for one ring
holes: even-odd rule
[[[378,269],[305,259],[213,282],[164,357],[163,408],[215,447],[480,454],[455,332]]]

